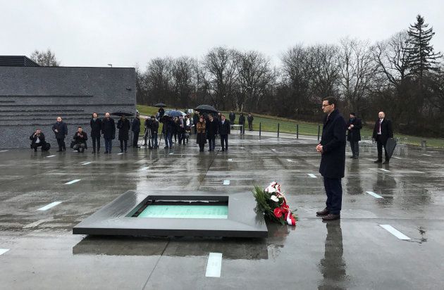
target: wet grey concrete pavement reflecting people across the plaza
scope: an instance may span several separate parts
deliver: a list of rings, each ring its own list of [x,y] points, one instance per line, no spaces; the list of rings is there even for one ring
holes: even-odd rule
[[[228,152],[199,153],[194,141],[111,156],[0,152],[1,288],[443,289],[444,151],[402,147],[375,165],[375,149],[362,148],[346,161],[342,219],[325,223],[315,216],[326,199],[315,146],[233,134]],[[266,239],[72,234],[127,190],[251,194],[273,180],[300,221],[269,225]],[[222,253],[220,277],[206,277],[209,253]]]

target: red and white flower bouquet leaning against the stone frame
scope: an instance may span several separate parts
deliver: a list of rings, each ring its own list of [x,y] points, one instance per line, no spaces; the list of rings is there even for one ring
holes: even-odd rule
[[[257,202],[257,210],[264,213],[266,218],[282,225],[296,225],[297,215],[291,212],[278,182],[271,182],[266,189],[254,187],[253,195]]]

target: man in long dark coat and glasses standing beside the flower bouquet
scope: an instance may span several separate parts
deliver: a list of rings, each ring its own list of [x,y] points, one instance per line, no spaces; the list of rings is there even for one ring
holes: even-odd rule
[[[323,122],[321,142],[316,151],[321,153],[319,172],[326,189],[326,208],[316,212],[323,220],[338,220],[343,200],[341,179],[345,171],[345,120],[336,108],[337,101],[329,96],[322,100],[322,109],[327,113]]]

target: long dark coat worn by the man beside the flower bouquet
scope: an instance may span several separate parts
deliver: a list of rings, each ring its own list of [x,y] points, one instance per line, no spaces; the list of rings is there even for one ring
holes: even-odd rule
[[[319,173],[327,178],[342,178],[345,170],[345,120],[338,109],[324,118],[322,138],[323,146]]]

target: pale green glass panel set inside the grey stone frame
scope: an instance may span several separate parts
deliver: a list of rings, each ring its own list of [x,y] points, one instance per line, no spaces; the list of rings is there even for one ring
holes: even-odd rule
[[[138,217],[228,218],[228,206],[155,206],[145,208]]]

